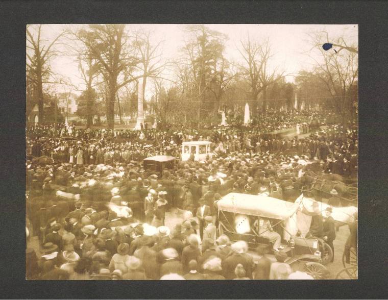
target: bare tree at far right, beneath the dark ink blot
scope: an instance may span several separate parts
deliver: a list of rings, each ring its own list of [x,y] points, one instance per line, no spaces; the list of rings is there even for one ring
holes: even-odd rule
[[[327,32],[323,31],[309,36],[313,49],[318,49],[321,53],[321,60],[310,55],[317,65],[314,74],[327,87],[333,107],[336,113],[342,117],[343,127],[346,129],[352,111],[355,109],[353,104],[357,97],[353,91],[358,79],[358,51],[353,51],[353,49],[357,49],[357,46],[351,45],[352,51],[342,51],[341,54],[340,51],[326,52],[322,48],[322,44],[329,40]],[[338,44],[341,40],[344,41],[344,38],[333,39]]]

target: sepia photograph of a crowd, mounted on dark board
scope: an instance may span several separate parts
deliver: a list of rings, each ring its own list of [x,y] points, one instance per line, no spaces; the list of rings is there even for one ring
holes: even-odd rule
[[[357,24],[27,24],[25,127],[26,280],[358,279]]]

